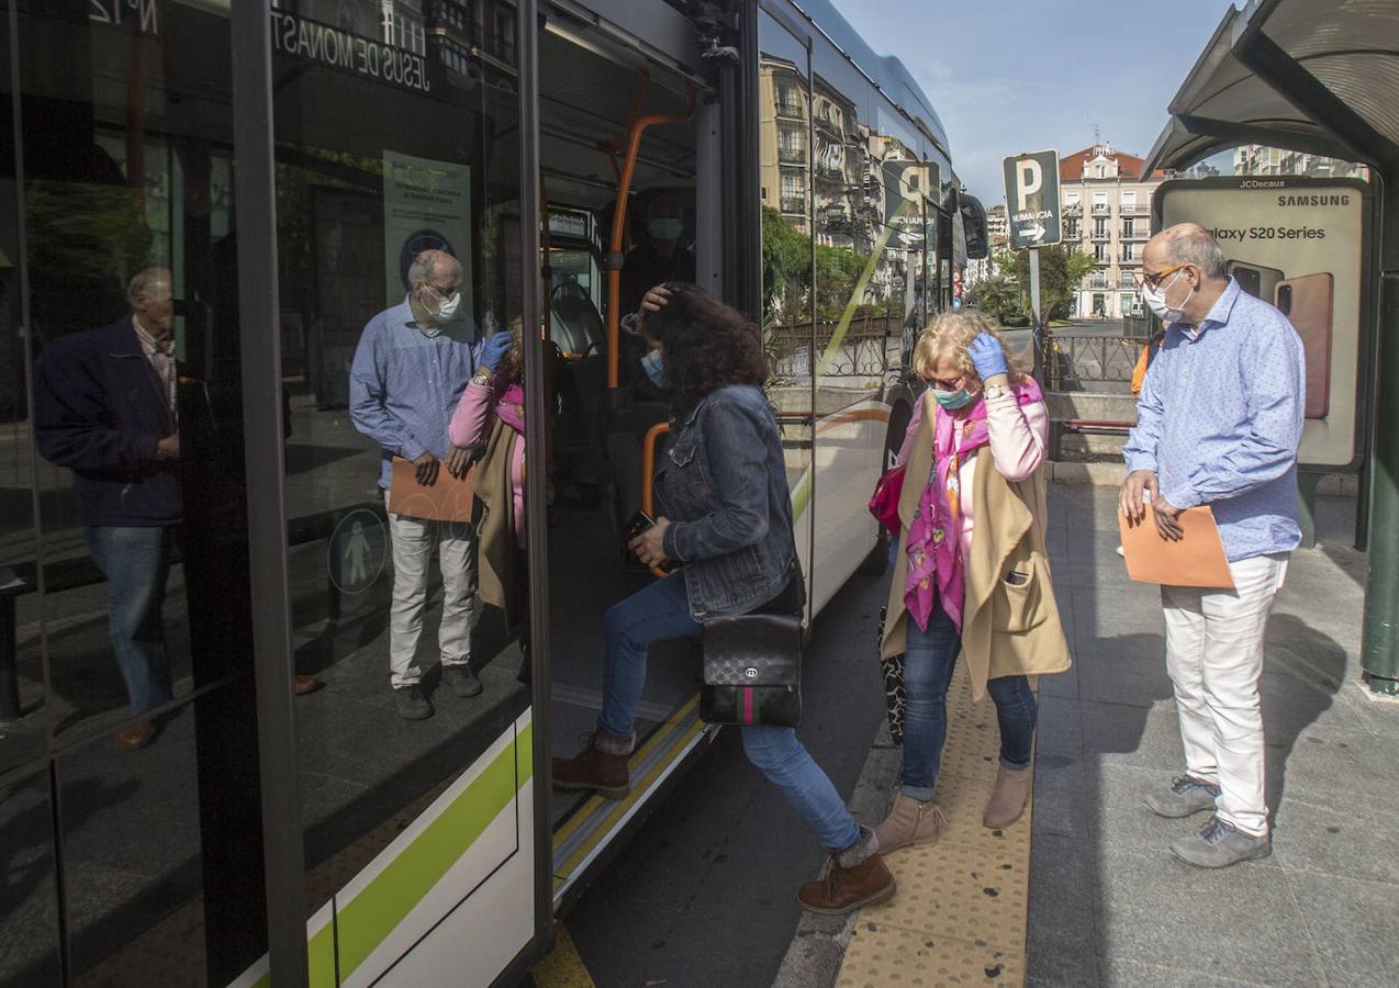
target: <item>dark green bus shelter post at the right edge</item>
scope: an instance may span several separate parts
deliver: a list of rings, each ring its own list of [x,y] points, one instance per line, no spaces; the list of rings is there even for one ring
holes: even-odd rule
[[[1391,179],[1395,171],[1385,171]],[[1382,182],[1379,326],[1370,470],[1370,579],[1361,668],[1371,693],[1399,697],[1399,199]]]

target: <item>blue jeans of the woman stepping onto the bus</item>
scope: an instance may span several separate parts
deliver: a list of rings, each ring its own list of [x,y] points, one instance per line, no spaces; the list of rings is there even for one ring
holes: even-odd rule
[[[606,627],[603,712],[597,726],[611,738],[631,738],[646,682],[646,648],[700,631],[700,623],[690,616],[684,575],[674,572],[609,607]],[[860,838],[855,817],[792,728],[758,725],[741,731],[748,761],[782,791],[823,847],[844,851]]]

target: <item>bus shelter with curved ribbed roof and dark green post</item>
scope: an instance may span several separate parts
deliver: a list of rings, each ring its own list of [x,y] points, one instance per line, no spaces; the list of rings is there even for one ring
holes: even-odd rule
[[[1361,537],[1368,537],[1363,668],[1399,696],[1399,7],[1254,0],[1205,46],[1146,171],[1184,169],[1241,144],[1370,165],[1381,203],[1365,256],[1372,304],[1357,371]],[[1368,354],[1368,360],[1365,355]]]

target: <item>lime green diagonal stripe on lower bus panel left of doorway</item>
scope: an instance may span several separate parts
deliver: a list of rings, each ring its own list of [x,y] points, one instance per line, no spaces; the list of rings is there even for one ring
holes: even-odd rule
[[[522,740],[518,738],[495,756],[358,896],[336,908],[341,978],[374,953],[515,798],[516,750]]]

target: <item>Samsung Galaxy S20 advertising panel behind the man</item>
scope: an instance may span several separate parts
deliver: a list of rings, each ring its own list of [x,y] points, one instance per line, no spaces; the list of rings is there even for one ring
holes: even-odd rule
[[[1240,287],[1291,320],[1307,355],[1298,462],[1353,469],[1370,186],[1287,176],[1172,181],[1154,206],[1156,230],[1188,221],[1209,230]]]

